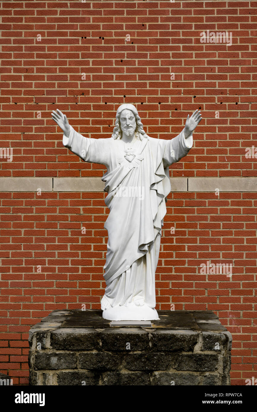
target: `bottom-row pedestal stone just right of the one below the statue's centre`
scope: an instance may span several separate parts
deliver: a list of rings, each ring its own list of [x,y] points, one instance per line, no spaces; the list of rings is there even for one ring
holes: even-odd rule
[[[153,372],[152,385],[199,385],[200,376],[184,372]]]

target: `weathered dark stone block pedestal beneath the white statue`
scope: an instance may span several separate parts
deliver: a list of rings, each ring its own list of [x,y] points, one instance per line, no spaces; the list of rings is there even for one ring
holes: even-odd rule
[[[158,311],[151,327],[55,310],[29,332],[31,385],[229,385],[231,334],[212,311]]]

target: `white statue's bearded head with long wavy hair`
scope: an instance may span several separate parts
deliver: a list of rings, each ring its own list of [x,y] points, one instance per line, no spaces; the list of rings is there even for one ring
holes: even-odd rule
[[[115,126],[111,137],[113,139],[120,139],[122,137],[122,132],[127,136],[132,136],[135,132],[136,138],[140,140],[148,137],[143,129],[143,124],[137,109],[134,105],[129,103],[122,104],[118,107]]]

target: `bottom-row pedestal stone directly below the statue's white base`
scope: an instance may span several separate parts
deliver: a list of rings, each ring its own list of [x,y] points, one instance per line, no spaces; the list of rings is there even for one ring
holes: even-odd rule
[[[102,385],[151,385],[149,373],[146,372],[106,372]]]

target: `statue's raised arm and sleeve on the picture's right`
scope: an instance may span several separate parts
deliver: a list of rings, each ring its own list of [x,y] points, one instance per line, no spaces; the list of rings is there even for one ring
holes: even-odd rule
[[[201,121],[200,110],[195,110],[191,117],[186,118],[184,129],[178,136],[171,140],[167,140],[163,153],[163,166],[170,166],[172,163],[178,162],[182,157],[186,156],[193,146],[193,131]]]

